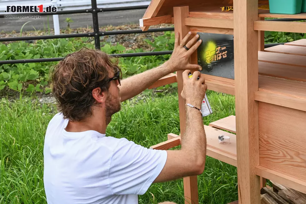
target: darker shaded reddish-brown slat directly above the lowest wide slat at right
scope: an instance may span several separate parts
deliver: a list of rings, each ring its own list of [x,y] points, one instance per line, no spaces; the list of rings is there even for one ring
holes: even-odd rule
[[[305,70],[304,67],[258,62],[258,74],[263,76],[306,82]]]

